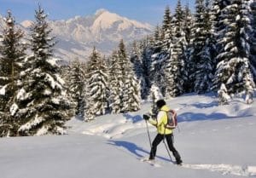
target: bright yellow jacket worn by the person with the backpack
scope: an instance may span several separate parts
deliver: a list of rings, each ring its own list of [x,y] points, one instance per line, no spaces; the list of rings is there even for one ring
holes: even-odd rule
[[[157,132],[160,135],[172,134],[172,129],[166,129],[167,124],[167,113],[170,109],[168,106],[162,106],[160,112],[157,114],[157,118],[149,118],[149,123],[153,124],[157,128]]]

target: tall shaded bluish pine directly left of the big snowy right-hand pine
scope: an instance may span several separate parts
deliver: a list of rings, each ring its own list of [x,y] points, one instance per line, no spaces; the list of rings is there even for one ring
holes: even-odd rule
[[[195,72],[195,92],[198,94],[209,92],[212,89],[212,79],[216,69],[216,46],[215,37],[212,31],[212,15],[209,0],[205,1],[203,14],[203,32],[201,37],[205,39]]]

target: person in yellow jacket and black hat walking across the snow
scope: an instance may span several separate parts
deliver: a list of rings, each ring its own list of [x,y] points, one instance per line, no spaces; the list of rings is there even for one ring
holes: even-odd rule
[[[156,119],[151,118],[148,114],[144,114],[143,118],[148,120],[149,123],[153,124],[157,128],[158,134],[155,136],[154,141],[152,143],[149,160],[153,160],[156,154],[157,146],[166,138],[167,145],[172,152],[173,156],[176,159],[176,164],[182,164],[183,161],[177,152],[176,148],[173,146],[173,134],[172,129],[167,129],[167,112],[170,111],[169,107],[166,106],[165,100],[157,100],[156,106],[158,108],[158,113]],[[172,110],[173,114],[176,114],[174,110]]]

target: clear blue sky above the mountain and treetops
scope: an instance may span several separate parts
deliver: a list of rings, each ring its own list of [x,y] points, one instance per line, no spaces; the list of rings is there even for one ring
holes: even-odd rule
[[[187,2],[193,9],[195,0],[182,0],[183,4]],[[86,16],[94,14],[97,9],[108,9],[129,19],[157,25],[162,21],[166,5],[173,12],[177,0],[0,0],[0,14],[5,15],[7,9],[11,9],[17,22],[33,20],[38,3],[49,14],[50,20]]]

